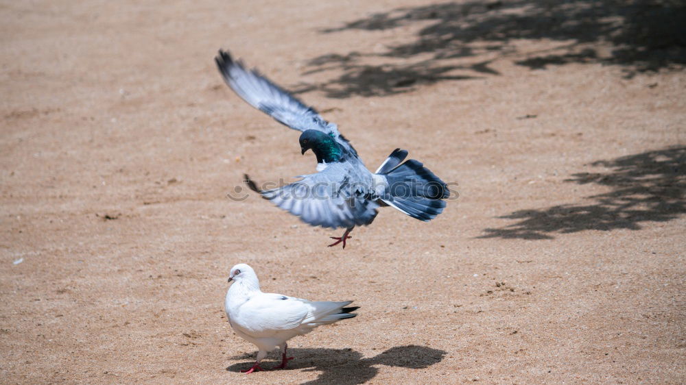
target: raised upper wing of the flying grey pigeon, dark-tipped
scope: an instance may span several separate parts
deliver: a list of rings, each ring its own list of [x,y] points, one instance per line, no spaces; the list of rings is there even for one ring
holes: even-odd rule
[[[279,123],[298,131],[316,129],[336,138],[341,145],[355,151],[334,123],[325,121],[314,108],[308,107],[283,88],[272,83],[256,69],[247,70],[240,60],[230,53],[219,51],[215,58],[224,81],[252,107],[269,114]]]

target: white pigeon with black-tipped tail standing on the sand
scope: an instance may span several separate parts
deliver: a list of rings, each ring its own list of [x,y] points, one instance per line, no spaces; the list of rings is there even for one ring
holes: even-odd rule
[[[351,313],[359,306],[346,308],[353,301],[307,301],[281,294],[262,293],[259,280],[252,267],[241,263],[231,268],[228,282],[234,282],[226,293],[226,316],[236,334],[257,345],[255,365],[243,373],[252,373],[262,369],[259,364],[267,352],[281,348],[281,365],[284,369],[286,358],[286,341],[314,330],[320,325],[328,325],[357,314]]]

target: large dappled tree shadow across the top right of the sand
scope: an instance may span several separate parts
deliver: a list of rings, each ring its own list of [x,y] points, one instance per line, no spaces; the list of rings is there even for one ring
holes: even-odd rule
[[[435,3],[372,14],[321,32],[397,29],[404,36],[407,28],[417,31],[410,42],[310,60],[306,73],[343,73],[321,84],[300,84],[296,92],[318,89],[335,98],[393,95],[418,84],[499,75],[489,64],[503,58],[530,69],[619,65],[626,77],[686,64],[686,3],[679,0]]]

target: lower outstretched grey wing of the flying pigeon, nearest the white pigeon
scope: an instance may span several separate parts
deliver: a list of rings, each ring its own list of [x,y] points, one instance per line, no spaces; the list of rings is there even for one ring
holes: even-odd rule
[[[357,180],[344,163],[329,164],[320,173],[273,190],[259,190],[246,175],[248,186],[279,208],[310,225],[333,229],[368,225],[377,215],[379,204],[370,199],[369,187]]]

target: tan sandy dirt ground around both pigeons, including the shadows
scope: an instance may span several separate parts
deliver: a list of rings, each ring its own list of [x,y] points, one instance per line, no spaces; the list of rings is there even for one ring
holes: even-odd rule
[[[0,382],[686,382],[679,3],[3,1]],[[459,198],[345,250],[229,199],[315,160],[220,48]],[[359,316],[239,373],[238,262]]]

